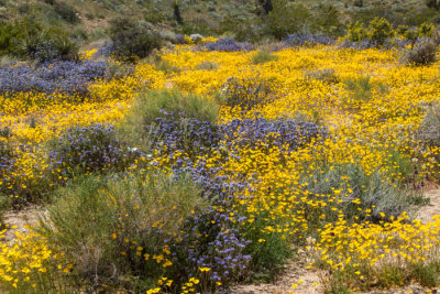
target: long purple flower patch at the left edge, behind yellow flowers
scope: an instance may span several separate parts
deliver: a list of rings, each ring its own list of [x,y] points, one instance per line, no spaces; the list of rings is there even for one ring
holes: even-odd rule
[[[106,74],[106,62],[54,62],[30,66],[0,66],[0,94],[18,91],[87,92],[90,83]]]

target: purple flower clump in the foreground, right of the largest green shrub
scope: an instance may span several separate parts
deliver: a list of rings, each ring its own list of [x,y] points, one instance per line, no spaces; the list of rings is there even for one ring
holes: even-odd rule
[[[176,262],[183,265],[189,276],[197,274],[199,268],[211,269],[209,281],[228,285],[234,279],[244,276],[251,261],[245,254],[249,240],[243,238],[233,220],[245,220],[227,213],[208,208],[189,218],[175,243]]]

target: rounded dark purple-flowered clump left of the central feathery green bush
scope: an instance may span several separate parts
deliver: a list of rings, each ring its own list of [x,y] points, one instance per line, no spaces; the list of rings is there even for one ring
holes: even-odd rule
[[[124,148],[116,134],[111,124],[103,123],[67,129],[53,142],[52,168],[63,170],[64,175],[123,168],[140,154]]]

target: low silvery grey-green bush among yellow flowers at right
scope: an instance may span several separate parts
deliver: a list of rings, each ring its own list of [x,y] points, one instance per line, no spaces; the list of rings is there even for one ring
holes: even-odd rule
[[[341,186],[341,177],[348,179],[346,186]],[[342,199],[338,206],[351,221],[378,221],[382,219],[381,213],[396,217],[403,211],[415,211],[416,206],[422,203],[422,197],[417,192],[403,190],[398,183],[386,179],[386,175],[377,171],[366,174],[355,164],[336,165],[331,168],[327,166],[305,181],[310,183],[307,190],[316,195],[332,195],[336,194],[334,190],[338,190]],[[342,196],[344,194],[346,197]],[[359,204],[353,203],[355,199],[360,200]],[[360,206],[361,210],[358,209]],[[365,209],[370,209],[366,210],[370,213],[365,213]],[[324,214],[327,221],[338,219],[338,214],[334,211],[329,210]],[[319,222],[317,219],[316,221]]]

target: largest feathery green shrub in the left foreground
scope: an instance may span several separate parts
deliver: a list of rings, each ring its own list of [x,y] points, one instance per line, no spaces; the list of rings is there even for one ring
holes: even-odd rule
[[[186,175],[82,177],[55,193],[38,231],[76,262],[75,275],[85,280],[86,288],[143,285],[145,293],[166,269],[157,270],[156,261],[144,254],[164,254],[164,240],[202,205],[200,195]]]

